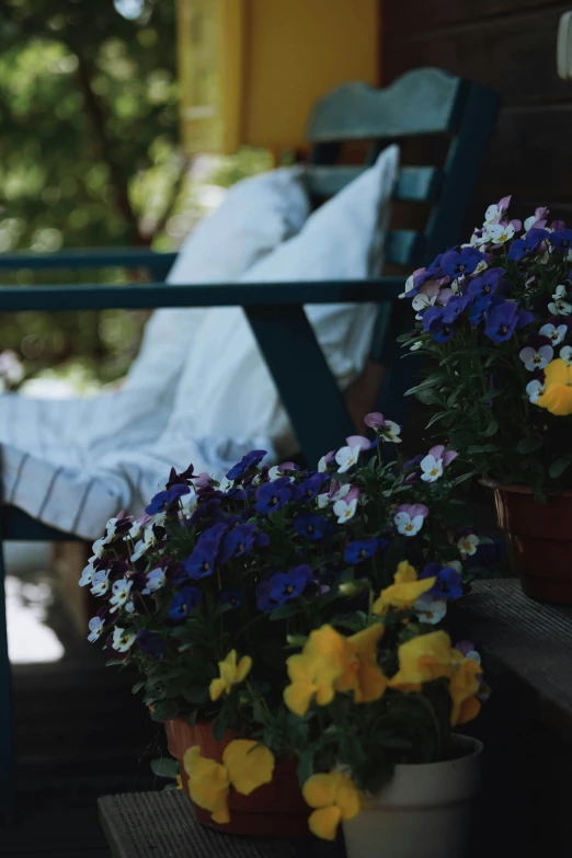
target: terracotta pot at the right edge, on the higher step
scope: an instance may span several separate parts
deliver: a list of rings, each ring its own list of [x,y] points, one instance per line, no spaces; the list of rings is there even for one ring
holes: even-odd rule
[[[540,602],[572,604],[572,492],[537,503],[526,485],[497,485],[496,517],[506,534],[524,593]]]

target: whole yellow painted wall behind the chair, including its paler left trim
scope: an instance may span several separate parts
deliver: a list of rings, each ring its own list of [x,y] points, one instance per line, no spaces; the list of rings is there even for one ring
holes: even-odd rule
[[[178,0],[185,148],[304,141],[312,102],[378,80],[380,0]]]

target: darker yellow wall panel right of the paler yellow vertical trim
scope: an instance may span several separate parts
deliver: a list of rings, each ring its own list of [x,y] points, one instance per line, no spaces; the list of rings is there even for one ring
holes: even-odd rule
[[[313,101],[340,83],[378,83],[379,0],[245,0],[242,138],[295,147]]]

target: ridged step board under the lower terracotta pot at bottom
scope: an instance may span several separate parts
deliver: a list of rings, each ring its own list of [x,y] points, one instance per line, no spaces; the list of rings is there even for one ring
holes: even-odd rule
[[[114,858],[296,858],[284,840],[232,837],[204,828],[180,791],[105,796],[99,808]]]

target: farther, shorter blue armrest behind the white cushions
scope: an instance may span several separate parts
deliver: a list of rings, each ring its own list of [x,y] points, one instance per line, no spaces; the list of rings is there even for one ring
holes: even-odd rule
[[[117,250],[67,250],[56,253],[0,253],[0,271],[31,268],[150,268],[169,270],[176,253],[157,253],[147,248]]]

